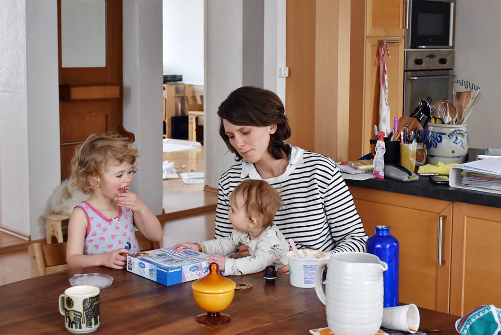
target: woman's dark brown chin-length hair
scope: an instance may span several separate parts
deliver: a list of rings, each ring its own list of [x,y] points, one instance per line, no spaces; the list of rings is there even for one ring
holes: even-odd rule
[[[221,135],[228,150],[236,155],[236,160],[242,159],[238,151],[229,142],[224,133],[222,119],[239,126],[269,126],[277,124],[277,131],[270,137],[268,151],[275,159],[289,156],[291,147],[284,141],[291,137],[291,127],[285,116],[284,104],[277,94],[259,87],[243,86],[231,92],[217,110],[219,115],[219,135]]]

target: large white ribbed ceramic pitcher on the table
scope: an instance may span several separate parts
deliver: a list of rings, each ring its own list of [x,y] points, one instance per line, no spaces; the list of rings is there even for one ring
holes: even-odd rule
[[[322,272],[328,266],[325,292]],[[385,262],[364,252],[342,252],[322,261],[315,291],[326,306],[327,324],[336,335],[374,335],[383,316]]]

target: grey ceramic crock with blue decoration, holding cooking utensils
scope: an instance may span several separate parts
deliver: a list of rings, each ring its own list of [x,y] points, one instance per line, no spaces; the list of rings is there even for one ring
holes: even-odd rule
[[[428,163],[463,163],[468,152],[467,124],[426,125]]]

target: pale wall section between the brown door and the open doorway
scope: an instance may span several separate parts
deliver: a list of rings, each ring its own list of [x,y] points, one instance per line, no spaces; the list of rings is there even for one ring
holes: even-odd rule
[[[132,191],[162,214],[162,0],[127,0],[124,16],[124,127],[139,150]]]

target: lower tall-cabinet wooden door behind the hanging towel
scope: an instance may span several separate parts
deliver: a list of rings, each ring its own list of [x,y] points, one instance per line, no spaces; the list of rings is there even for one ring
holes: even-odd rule
[[[374,125],[379,124],[379,45],[380,38],[366,39],[365,55],[365,104],[363,115],[362,154],[373,149],[369,140],[374,137]],[[390,106],[390,128],[394,117],[402,116],[404,94],[404,39],[396,38],[387,40],[390,57],[386,55],[386,68],[388,72],[388,104]],[[373,151],[373,150],[372,150]],[[357,157],[358,158],[358,157]]]

